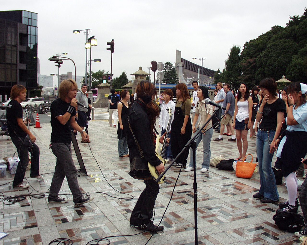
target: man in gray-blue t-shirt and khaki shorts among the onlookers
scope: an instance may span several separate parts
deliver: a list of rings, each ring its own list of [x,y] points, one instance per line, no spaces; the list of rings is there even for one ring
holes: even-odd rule
[[[228,83],[225,83],[223,85],[224,92],[226,93],[226,96],[223,101],[223,107],[226,108],[225,110],[222,110],[222,119],[221,119],[221,129],[220,129],[220,136],[213,141],[222,141],[223,140],[223,133],[225,129],[225,125],[228,125],[230,127],[231,131],[231,138],[228,139],[228,141],[236,141],[235,138],[235,131],[232,128],[232,116],[235,112],[235,97],[233,96],[232,92],[230,91],[230,85]]]

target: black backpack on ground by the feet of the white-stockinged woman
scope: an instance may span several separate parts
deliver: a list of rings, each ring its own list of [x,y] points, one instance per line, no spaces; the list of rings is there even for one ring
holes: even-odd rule
[[[304,226],[303,216],[292,212],[276,212],[273,216],[273,220],[279,229],[287,232],[298,232]]]

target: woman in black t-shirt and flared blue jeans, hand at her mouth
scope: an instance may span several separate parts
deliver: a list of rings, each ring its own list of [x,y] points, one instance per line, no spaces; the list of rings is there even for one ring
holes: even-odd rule
[[[282,99],[277,97],[277,84],[273,78],[263,79],[259,86],[263,96],[256,115],[256,121],[261,121],[256,140],[260,189],[253,197],[262,198],[260,202],[264,203],[277,202],[279,195],[272,170],[272,158],[275,151],[274,144],[282,128],[286,106]]]

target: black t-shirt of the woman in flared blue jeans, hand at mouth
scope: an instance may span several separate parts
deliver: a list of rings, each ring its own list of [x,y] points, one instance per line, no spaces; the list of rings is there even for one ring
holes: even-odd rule
[[[263,116],[259,128],[276,130],[277,113],[279,111],[286,112],[286,104],[282,99],[278,98],[272,104],[266,103],[263,107]]]

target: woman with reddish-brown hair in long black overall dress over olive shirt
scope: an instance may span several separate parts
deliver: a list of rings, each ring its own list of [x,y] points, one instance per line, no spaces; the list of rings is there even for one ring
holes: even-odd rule
[[[172,123],[172,153],[175,158],[192,135],[192,123],[190,118],[191,100],[189,98],[188,88],[185,83],[176,85],[176,105],[174,112],[174,120]],[[177,168],[186,168],[188,152],[183,153],[177,158]]]

